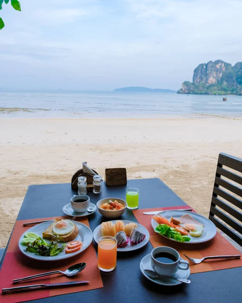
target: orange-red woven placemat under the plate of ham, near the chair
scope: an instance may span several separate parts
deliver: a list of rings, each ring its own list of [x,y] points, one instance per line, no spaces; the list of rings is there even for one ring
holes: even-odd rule
[[[152,211],[167,211],[167,210],[179,210],[179,209],[191,209],[189,206],[176,206],[176,207],[164,207],[164,208],[155,208],[155,209],[144,209],[144,210],[134,210],[133,214],[137,219],[138,223],[146,227],[150,233],[150,242],[152,246],[170,246],[176,249],[180,256],[186,260],[183,254],[191,258],[201,259],[206,256],[219,256],[219,255],[238,255],[242,257],[242,254],[228,241],[226,240],[219,232],[216,236],[205,243],[199,244],[186,244],[175,242],[169,239],[164,238],[154,231],[151,225],[152,215],[143,215],[143,212],[152,212]],[[192,210],[195,212],[194,210]],[[190,271],[191,274],[202,273],[213,270],[228,269],[234,267],[242,266],[242,259],[217,259],[209,260],[202,262],[200,264],[193,264],[190,262]]]

